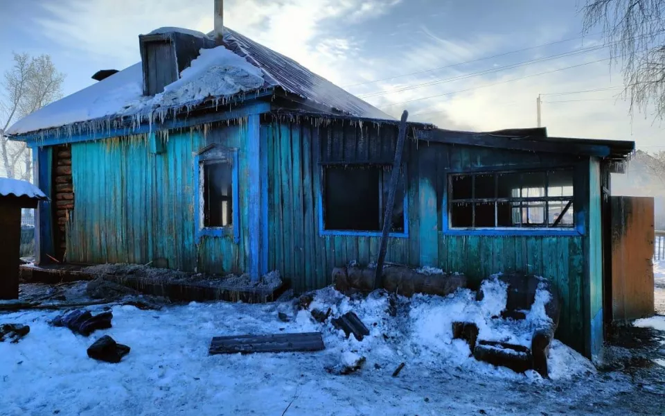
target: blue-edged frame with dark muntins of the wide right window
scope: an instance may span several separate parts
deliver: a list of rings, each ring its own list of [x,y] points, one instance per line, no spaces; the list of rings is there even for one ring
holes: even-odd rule
[[[504,173],[547,173],[547,172],[560,172],[560,171],[571,171],[573,173],[573,196],[567,200],[572,200],[572,205],[574,207],[573,214],[573,225],[569,227],[452,227],[452,215],[451,207],[453,202],[458,200],[452,199],[452,178],[455,175],[500,175]],[[580,205],[582,198],[578,195],[580,190],[583,190],[583,187],[580,187],[578,184],[578,179],[576,177],[576,167],[573,165],[565,166],[529,166],[529,168],[497,168],[497,169],[481,169],[473,171],[448,171],[445,173],[445,191],[443,192],[443,200],[441,203],[441,215],[442,215],[442,230],[441,234],[446,235],[459,235],[459,236],[472,236],[472,235],[485,235],[485,236],[581,236],[584,235],[584,220],[580,216],[580,211],[583,207]],[[496,187],[496,182],[495,182]],[[547,182],[545,183],[547,188]],[[472,198],[475,196],[475,190],[472,193]],[[496,194],[495,194],[496,195]],[[520,201],[528,202],[529,200],[544,200],[547,197],[527,197],[527,198],[515,198]],[[547,200],[557,200],[565,199],[567,197],[552,197],[547,198]],[[465,198],[468,199],[468,198]],[[513,199],[513,198],[478,198],[481,199],[492,199],[494,201],[504,200],[504,199]],[[545,214],[547,216],[547,205],[545,209]],[[497,221],[495,214],[495,223]]]

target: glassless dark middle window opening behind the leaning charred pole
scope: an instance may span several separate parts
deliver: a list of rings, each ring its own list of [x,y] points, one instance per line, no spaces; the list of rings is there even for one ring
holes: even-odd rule
[[[323,228],[380,232],[388,199],[391,166],[324,166]],[[391,232],[405,230],[404,173],[395,193]]]

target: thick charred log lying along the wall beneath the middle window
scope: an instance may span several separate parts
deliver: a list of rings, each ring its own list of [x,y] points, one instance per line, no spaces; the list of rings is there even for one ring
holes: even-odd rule
[[[375,270],[349,266],[332,270],[337,291],[346,295],[369,293],[373,290]],[[459,274],[425,274],[407,266],[390,264],[384,267],[382,288],[391,293],[410,297],[415,293],[445,296],[466,287],[466,277]]]

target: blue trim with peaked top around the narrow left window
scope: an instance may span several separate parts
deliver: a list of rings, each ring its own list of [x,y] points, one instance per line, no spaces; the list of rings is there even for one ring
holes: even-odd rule
[[[222,146],[213,145],[213,148],[222,148]],[[212,148],[211,148],[212,149]],[[235,148],[223,148],[224,151],[227,151],[231,154],[233,160],[232,166],[232,175],[231,180],[233,181],[233,190],[231,191],[233,195],[233,224],[229,227],[202,227],[201,220],[201,203],[202,203],[202,194],[201,194],[201,167],[206,161],[202,160],[202,155],[206,151],[211,149],[206,149],[202,153],[194,154],[194,220],[195,220],[195,243],[199,244],[203,236],[210,237],[224,237],[224,236],[233,236],[233,241],[238,244],[240,243],[240,206],[239,206],[239,196],[238,196],[238,149]],[[215,159],[210,159],[211,161]]]

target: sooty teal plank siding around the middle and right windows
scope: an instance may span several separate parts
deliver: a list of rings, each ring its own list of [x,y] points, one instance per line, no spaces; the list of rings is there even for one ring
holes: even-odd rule
[[[269,268],[280,270],[296,291],[305,291],[332,283],[332,268],[353,260],[376,261],[377,236],[321,236],[319,162],[389,162],[396,129],[348,123],[272,123],[262,129],[268,150]],[[472,286],[497,272],[545,277],[561,300],[557,336],[582,351],[579,334],[588,327],[581,313],[584,236],[450,236],[441,233],[441,218],[447,173],[571,166],[576,180],[588,183],[588,159],[409,140],[405,163],[409,237],[390,239],[387,261],[463,272]],[[578,222],[585,222],[585,201],[576,197]]]

